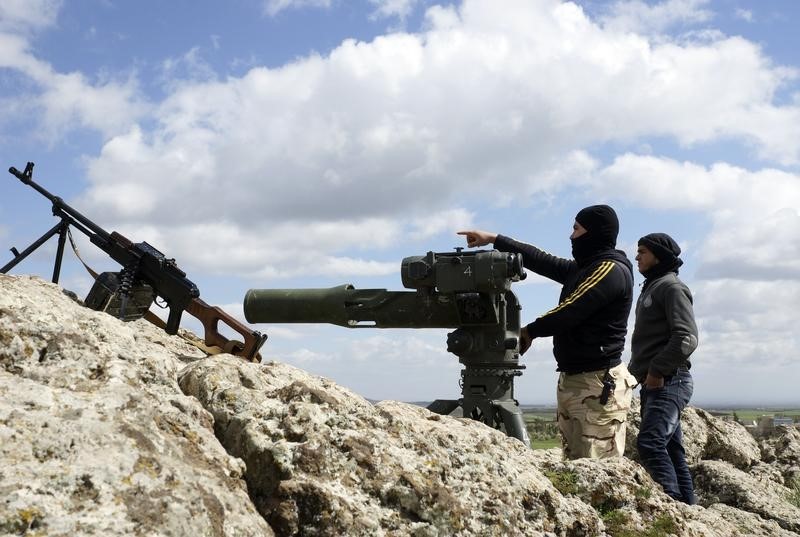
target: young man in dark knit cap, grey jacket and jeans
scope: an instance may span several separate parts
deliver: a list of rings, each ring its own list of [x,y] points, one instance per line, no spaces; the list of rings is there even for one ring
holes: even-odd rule
[[[694,504],[680,416],[694,387],[689,356],[697,348],[697,325],[692,294],[678,279],[680,253],[666,233],[639,239],[636,261],[645,280],[636,303],[628,369],[642,385],[636,442],[642,465],[667,494]]]

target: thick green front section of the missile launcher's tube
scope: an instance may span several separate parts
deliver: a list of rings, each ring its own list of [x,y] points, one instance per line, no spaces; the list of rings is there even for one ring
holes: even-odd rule
[[[325,289],[250,289],[244,296],[249,323],[330,323],[350,326],[345,304],[350,284]]]

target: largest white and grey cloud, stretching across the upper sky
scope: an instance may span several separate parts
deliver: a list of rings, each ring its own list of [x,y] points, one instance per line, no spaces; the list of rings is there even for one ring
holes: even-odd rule
[[[661,8],[691,19],[702,5]],[[576,149],[586,144],[738,139],[763,158],[800,162],[800,107],[773,103],[793,76],[742,38],[654,43],[603,28],[571,3],[509,0],[498,10],[468,0],[429,9],[423,33],[347,40],[328,56],[241,78],[184,81],[155,110],[155,128],[113,136],[89,162],[85,199],[121,226],[170,230],[168,244],[216,270],[289,275],[314,251],[301,272],[378,274],[388,266],[343,252],[449,233],[470,219],[456,208],[465,200],[552,201],[596,173]],[[70,94],[86,89],[75,86]],[[125,88],[127,97],[109,101],[135,102]],[[75,110],[88,114],[80,102],[67,107]],[[626,167],[647,163],[627,158],[602,176],[639,192],[616,176],[641,177]],[[562,159],[567,166],[553,165]],[[676,205],[705,208],[742,189],[765,197],[743,170],[660,166],[663,184],[685,194]],[[769,174],[779,172],[756,184]],[[731,180],[736,187],[722,184]],[[792,192],[791,180],[779,183]],[[645,200],[673,199],[665,194],[675,187],[659,184],[641,192]],[[109,196],[120,189],[124,198]],[[180,246],[197,236],[206,249]]]

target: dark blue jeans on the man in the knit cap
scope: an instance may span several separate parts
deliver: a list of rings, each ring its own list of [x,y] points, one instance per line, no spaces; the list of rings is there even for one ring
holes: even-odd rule
[[[692,375],[683,368],[665,377],[662,388],[642,386],[642,425],[636,439],[639,458],[650,477],[664,487],[664,492],[689,505],[697,500],[683,449],[681,410],[693,390]]]

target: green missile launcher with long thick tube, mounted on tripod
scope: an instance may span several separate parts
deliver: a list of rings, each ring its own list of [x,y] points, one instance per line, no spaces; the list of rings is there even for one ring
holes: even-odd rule
[[[250,289],[250,323],[330,323],[347,328],[455,328],[447,350],[464,365],[461,399],[437,399],[428,408],[479,420],[529,445],[514,377],[519,363],[519,301],[511,283],[525,278],[519,254],[480,250],[428,252],[401,265],[403,287],[415,291]]]

